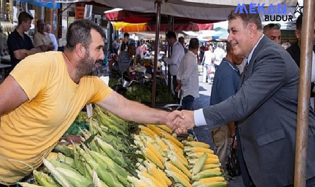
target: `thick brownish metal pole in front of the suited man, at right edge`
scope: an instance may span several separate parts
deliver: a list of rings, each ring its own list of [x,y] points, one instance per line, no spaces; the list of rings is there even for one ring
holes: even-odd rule
[[[309,129],[310,82],[314,34],[314,6],[314,0],[304,0],[301,33],[300,80],[297,105],[294,187],[306,186],[307,136]]]

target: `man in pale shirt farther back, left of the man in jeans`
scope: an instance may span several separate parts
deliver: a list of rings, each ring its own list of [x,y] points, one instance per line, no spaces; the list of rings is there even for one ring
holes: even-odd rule
[[[184,52],[183,46],[177,41],[175,32],[169,31],[166,34],[166,40],[168,44],[172,46],[172,55],[171,55],[171,58],[169,59],[162,57],[162,61],[170,65],[170,73],[173,78],[173,81],[172,81],[173,89],[174,89],[174,92],[176,93],[176,87],[177,87],[176,73],[180,66],[181,59],[185,55],[185,52]]]

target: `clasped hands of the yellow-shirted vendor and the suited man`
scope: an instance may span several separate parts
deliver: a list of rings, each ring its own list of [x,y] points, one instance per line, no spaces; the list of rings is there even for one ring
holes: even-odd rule
[[[188,129],[195,126],[194,111],[174,110],[167,116],[167,124],[176,134],[187,133]]]

